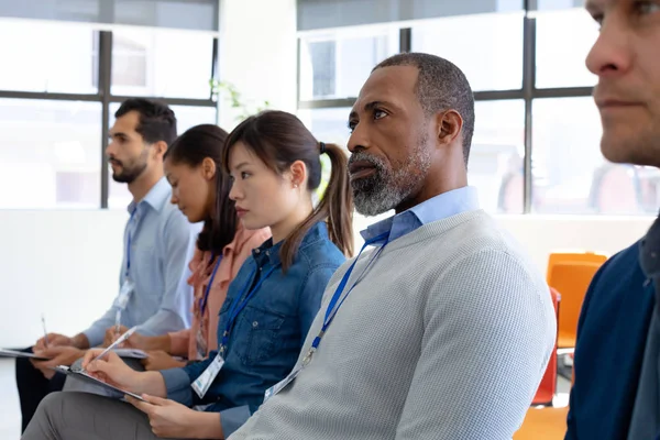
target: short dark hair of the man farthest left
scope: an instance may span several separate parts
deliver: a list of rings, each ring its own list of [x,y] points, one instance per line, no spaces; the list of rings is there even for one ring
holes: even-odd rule
[[[145,142],[153,144],[164,141],[170,145],[176,139],[176,117],[167,105],[144,98],[131,98],[121,105],[114,118],[123,117],[130,111],[140,113],[135,131]]]

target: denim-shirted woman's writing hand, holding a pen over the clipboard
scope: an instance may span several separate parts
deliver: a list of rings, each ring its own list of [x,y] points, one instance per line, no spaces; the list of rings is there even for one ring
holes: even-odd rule
[[[117,355],[110,351],[103,355],[103,359],[94,360],[103,352],[102,349],[88,350],[80,365],[82,370],[100,381],[119,388],[131,392],[140,391],[140,373],[131,369]]]

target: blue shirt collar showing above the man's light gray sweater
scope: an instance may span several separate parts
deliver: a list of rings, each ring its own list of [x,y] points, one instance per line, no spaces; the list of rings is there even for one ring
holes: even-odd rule
[[[367,241],[389,232],[387,241],[392,242],[424,224],[475,209],[479,209],[476,188],[465,186],[442,193],[404,212],[388,217],[370,226],[360,234]]]

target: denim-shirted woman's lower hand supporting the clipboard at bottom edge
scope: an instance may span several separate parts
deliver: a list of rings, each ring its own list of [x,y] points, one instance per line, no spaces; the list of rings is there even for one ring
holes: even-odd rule
[[[224,438],[218,414],[195,411],[174,400],[146,394],[142,398],[148,403],[127,396],[128,402],[148,416],[153,433],[161,438]]]

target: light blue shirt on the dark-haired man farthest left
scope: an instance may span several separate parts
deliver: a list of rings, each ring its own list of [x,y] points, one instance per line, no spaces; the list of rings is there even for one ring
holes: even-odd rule
[[[190,327],[193,289],[187,284],[190,276],[187,262],[195,252],[201,226],[190,224],[169,204],[170,197],[172,188],[163,177],[142,200],[132,201],[128,207],[132,216],[124,230],[119,286],[127,280],[130,260],[128,276],[134,284],[134,290],[121,314],[121,323],[129,328],[140,326],[138,331],[145,336],[165,334]],[[91,346],[103,342],[106,330],[114,324],[118,300],[119,297],[84,332]]]

